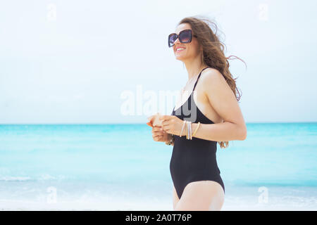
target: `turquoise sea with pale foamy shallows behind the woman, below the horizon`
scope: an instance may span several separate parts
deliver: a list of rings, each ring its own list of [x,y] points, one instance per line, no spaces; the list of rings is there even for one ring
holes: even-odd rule
[[[317,122],[218,145],[223,210],[317,210]],[[0,210],[173,210],[173,146],[147,124],[0,125]]]

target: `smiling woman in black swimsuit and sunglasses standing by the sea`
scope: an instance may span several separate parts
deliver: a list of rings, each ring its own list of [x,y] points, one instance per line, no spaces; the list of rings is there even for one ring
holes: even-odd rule
[[[247,137],[230,57],[205,21],[210,22],[184,18],[168,36],[175,58],[185,64],[188,82],[172,115],[162,115],[162,126],[152,128],[154,141],[173,145],[174,210],[220,210],[225,186],[216,162],[217,142],[226,148],[228,141]]]

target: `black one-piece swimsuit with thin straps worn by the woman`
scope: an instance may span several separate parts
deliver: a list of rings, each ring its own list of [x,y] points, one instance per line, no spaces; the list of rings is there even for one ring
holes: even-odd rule
[[[194,89],[201,72],[194,84]],[[180,108],[175,110],[174,107],[172,115],[180,118],[180,120],[187,120],[193,123],[214,124],[214,122],[201,113],[194,102],[194,89],[187,101]],[[170,158],[170,174],[178,193],[178,198],[182,196],[185,186],[193,181],[216,181],[223,187],[223,191],[225,191],[217,165],[216,151],[217,141],[208,141],[195,137],[192,137],[192,140],[187,140],[186,136],[180,137],[179,135],[175,135],[173,153]]]

